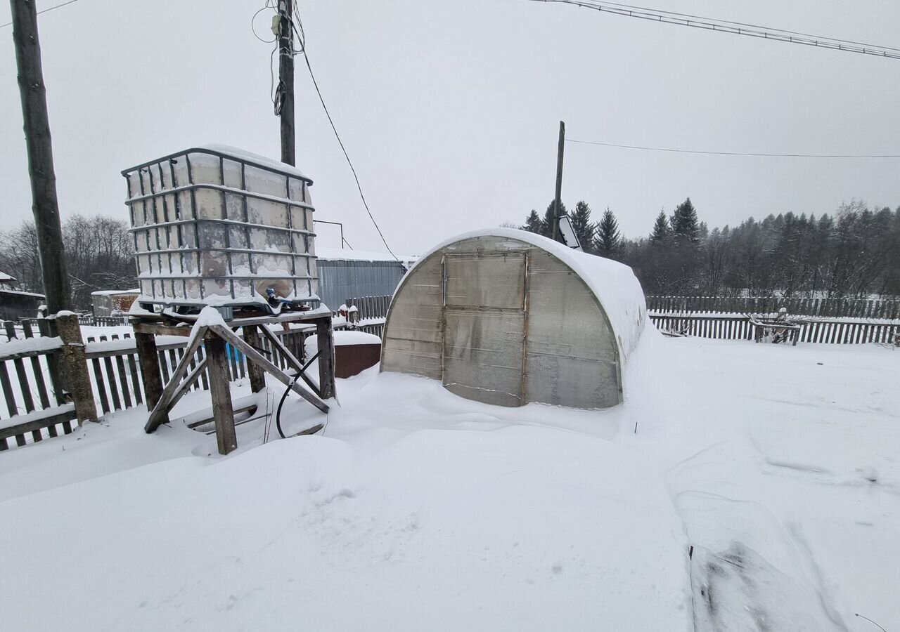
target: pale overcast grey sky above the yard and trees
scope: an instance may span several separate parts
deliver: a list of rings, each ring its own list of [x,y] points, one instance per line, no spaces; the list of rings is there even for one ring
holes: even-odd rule
[[[61,0],[39,0],[46,8]],[[900,153],[900,61],[526,0],[299,0],[307,46],[395,252],[543,213],[569,138],[746,152]],[[645,0],[897,46],[896,0]],[[39,18],[63,217],[127,218],[122,168],[203,142],[279,156],[263,0],[80,0]],[[257,18],[266,36],[269,13]],[[9,6],[0,3],[0,23]],[[0,30],[0,227],[31,217],[12,29]],[[317,218],[383,250],[302,62],[298,166]],[[655,154],[569,144],[563,201],[627,236],[690,196],[709,225],[900,205],[900,160]],[[320,229],[320,245],[338,246]]]

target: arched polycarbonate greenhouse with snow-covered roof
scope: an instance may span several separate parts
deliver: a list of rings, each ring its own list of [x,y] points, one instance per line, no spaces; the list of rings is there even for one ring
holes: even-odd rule
[[[646,320],[628,266],[493,228],[438,245],[401,280],[382,370],[487,404],[607,408]]]

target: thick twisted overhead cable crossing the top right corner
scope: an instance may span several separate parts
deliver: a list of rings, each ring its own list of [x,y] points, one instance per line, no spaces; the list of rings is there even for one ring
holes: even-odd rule
[[[720,33],[729,33],[732,35],[744,35],[747,37],[759,38],[761,40],[783,41],[790,44],[815,46],[819,49],[841,50],[843,52],[873,55],[880,58],[900,59],[900,49],[887,46],[878,46],[876,44],[865,44],[852,40],[841,40],[838,38],[808,35],[799,31],[786,31],[783,29],[756,26],[744,22],[717,20],[716,18],[700,17],[696,15],[690,15],[688,13],[674,13],[669,11],[662,11],[659,9],[645,9],[644,7],[633,6],[630,4],[594,2],[592,0],[529,1],[572,4],[573,6],[581,6],[586,9],[594,9],[595,11],[599,11],[601,13],[613,13],[615,15],[623,15],[625,17],[650,20],[652,22],[675,24],[676,26],[689,26],[695,29],[703,29],[704,31],[716,31]]]

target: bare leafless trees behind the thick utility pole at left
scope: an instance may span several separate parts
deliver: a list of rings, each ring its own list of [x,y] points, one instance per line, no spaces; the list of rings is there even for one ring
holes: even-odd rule
[[[76,309],[90,309],[91,292],[97,289],[137,287],[134,240],[127,223],[75,215],[63,222],[62,236],[72,304]],[[20,289],[43,293],[38,234],[33,221],[0,231],[0,271],[19,280]]]

